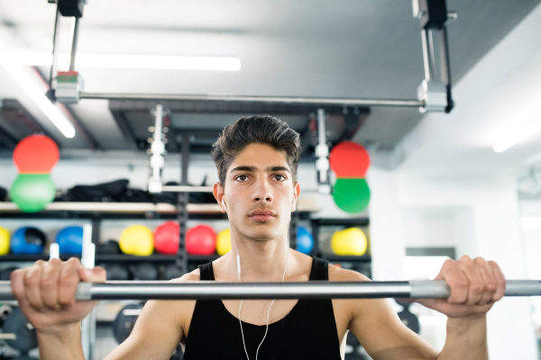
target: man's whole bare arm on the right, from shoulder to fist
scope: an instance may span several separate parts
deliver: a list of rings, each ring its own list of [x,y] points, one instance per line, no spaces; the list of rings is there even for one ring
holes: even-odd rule
[[[370,281],[351,271],[333,272],[335,281]],[[349,329],[374,360],[488,360],[486,313],[505,293],[506,282],[500,267],[481,257],[447,260],[436,280],[449,284],[451,296],[417,302],[447,315],[447,337],[439,355],[401,323],[387,301],[348,301]]]

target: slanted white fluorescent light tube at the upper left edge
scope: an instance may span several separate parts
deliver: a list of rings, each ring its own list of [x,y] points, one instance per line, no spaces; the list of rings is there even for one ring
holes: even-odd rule
[[[75,136],[75,129],[68,121],[68,119],[60,112],[60,110],[50,102],[50,100],[41,93],[40,88],[36,85],[30,76],[26,75],[23,68],[17,65],[13,59],[10,58],[8,53],[2,54],[0,49],[0,64],[5,67],[5,70],[11,75],[14,80],[19,84],[23,90],[28,94],[34,103],[38,105],[42,112],[52,121],[52,123],[59,128],[60,132],[66,138],[73,138]]]

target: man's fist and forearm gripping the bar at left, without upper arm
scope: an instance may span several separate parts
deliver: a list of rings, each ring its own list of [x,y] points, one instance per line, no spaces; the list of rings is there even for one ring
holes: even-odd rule
[[[37,261],[11,275],[14,297],[36,329],[41,360],[84,360],[80,320],[97,302],[75,302],[77,284],[105,282],[102,267],[89,270],[72,257]]]

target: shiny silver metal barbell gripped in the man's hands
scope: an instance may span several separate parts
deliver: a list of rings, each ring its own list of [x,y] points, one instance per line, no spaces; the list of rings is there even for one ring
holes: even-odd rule
[[[256,300],[256,299],[367,299],[448,298],[445,281],[216,283],[80,283],[76,300]],[[541,296],[539,280],[508,280],[505,296]],[[0,301],[14,300],[11,282],[0,282]]]

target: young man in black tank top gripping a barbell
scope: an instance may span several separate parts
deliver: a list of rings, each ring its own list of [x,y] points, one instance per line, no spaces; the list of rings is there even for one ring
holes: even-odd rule
[[[299,155],[298,134],[278,119],[242,118],[225,128],[213,149],[220,178],[214,194],[229,217],[233,248],[178,282],[370,281],[289,248]],[[186,360],[338,360],[348,330],[375,360],[488,359],[486,313],[505,292],[499,266],[480,257],[447,260],[436,279],[450,285],[449,299],[419,302],[448,317],[439,354],[382,299],[150,301],[132,335],[106,359],[165,360],[180,342]],[[74,302],[80,281],[104,282],[105,271],[83,269],[72,258],[38,261],[12,275],[14,295],[37,329],[42,360],[83,359],[79,321],[96,302]]]

